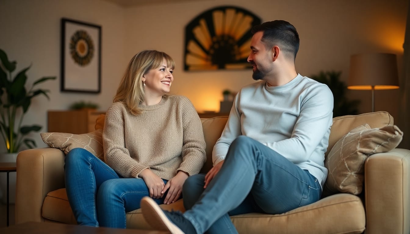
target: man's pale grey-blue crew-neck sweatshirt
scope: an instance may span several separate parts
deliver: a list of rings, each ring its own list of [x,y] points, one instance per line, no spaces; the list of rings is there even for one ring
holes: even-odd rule
[[[300,74],[282,86],[269,87],[266,81],[245,86],[235,97],[216,141],[213,163],[224,160],[232,141],[244,135],[308,170],[323,188],[332,111],[333,94],[328,86]]]

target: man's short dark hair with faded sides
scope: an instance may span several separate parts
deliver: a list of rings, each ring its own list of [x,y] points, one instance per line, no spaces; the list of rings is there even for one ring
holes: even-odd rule
[[[285,20],[274,20],[255,25],[252,33],[263,32],[262,42],[266,49],[278,45],[285,53],[296,59],[299,50],[299,34],[296,28]]]

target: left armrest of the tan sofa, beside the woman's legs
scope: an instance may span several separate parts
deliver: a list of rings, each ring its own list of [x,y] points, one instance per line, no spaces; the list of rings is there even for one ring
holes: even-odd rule
[[[17,156],[16,224],[41,222],[47,193],[65,187],[64,152],[56,148],[24,150]]]

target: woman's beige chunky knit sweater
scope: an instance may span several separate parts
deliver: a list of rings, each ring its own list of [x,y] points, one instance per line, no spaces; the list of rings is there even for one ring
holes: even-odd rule
[[[199,116],[188,98],[164,96],[156,105],[139,105],[133,115],[121,102],[107,110],[103,132],[105,162],[125,178],[146,168],[162,179],[179,170],[197,174],[206,160]]]

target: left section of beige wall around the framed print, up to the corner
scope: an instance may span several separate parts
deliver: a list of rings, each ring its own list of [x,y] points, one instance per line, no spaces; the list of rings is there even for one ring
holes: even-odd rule
[[[60,92],[62,17],[102,26],[100,94]],[[127,62],[124,28],[123,8],[101,0],[0,0],[0,48],[10,60],[17,61],[16,70],[32,64],[27,71],[27,84],[30,85],[40,77],[57,76],[56,80],[39,85],[39,88],[50,90],[50,101],[44,96],[33,98],[23,125],[39,124],[43,126],[41,131],[46,132],[48,110],[68,109],[79,100],[97,102],[101,109],[107,109]],[[46,147],[39,133],[32,136],[39,147]],[[4,149],[1,143],[0,152]]]

